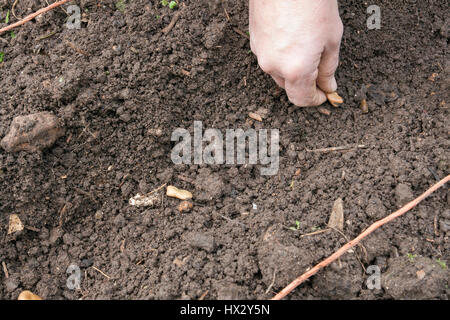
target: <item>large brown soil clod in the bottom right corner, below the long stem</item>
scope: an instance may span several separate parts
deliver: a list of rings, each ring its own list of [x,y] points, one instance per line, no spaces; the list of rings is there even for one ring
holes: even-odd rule
[[[401,256],[389,260],[381,285],[393,299],[444,299],[449,279],[449,269],[443,269],[436,261]]]

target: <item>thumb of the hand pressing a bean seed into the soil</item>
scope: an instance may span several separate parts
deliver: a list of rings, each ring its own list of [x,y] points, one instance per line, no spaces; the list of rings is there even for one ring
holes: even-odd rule
[[[319,75],[317,86],[326,93],[334,92],[337,89],[334,73],[339,65],[339,47],[328,49],[322,53],[319,64]]]

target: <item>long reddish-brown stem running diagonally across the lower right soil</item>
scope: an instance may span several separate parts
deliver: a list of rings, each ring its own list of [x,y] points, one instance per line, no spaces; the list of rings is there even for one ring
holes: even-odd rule
[[[386,218],[383,218],[381,220],[376,221],[373,223],[369,228],[367,228],[365,231],[363,231],[359,236],[357,236],[352,241],[349,241],[347,244],[345,244],[343,247],[341,247],[338,251],[333,253],[331,256],[320,262],[319,264],[315,265],[312,269],[302,274],[300,277],[292,281],[286,288],[281,290],[277,295],[275,295],[272,300],[281,300],[284,297],[286,297],[292,290],[294,290],[297,286],[302,284],[305,280],[309,279],[311,276],[315,275],[320,269],[326,267],[336,259],[338,259],[340,256],[342,256],[344,253],[348,251],[348,249],[354,247],[357,245],[362,239],[367,237],[369,234],[374,232],[379,227],[383,226],[384,224],[394,220],[395,218],[405,214],[415,206],[417,206],[422,200],[427,198],[430,194],[435,192],[437,189],[442,187],[444,184],[446,184],[448,181],[450,181],[450,175],[433,185],[430,189],[425,191],[420,197],[414,199],[413,201],[406,204],[401,209],[395,211],[394,213],[391,213]]]

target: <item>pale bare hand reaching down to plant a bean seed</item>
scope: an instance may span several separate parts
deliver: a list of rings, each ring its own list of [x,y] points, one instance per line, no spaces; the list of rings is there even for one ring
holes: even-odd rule
[[[318,106],[337,90],[343,25],[337,0],[249,0],[250,45],[289,100]]]

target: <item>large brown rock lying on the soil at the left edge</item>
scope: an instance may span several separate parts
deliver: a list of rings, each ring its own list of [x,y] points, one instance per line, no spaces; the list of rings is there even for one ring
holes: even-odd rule
[[[0,145],[8,152],[36,152],[50,147],[64,135],[58,118],[50,112],[15,117]]]

